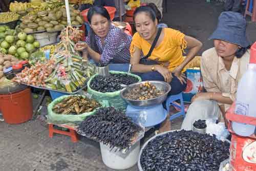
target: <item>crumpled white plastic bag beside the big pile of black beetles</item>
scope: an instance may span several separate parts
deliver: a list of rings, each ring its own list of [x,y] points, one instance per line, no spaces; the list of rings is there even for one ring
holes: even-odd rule
[[[216,123],[215,119],[207,119],[206,125],[206,133],[210,135],[215,134],[218,140],[225,141],[229,135],[224,122]]]

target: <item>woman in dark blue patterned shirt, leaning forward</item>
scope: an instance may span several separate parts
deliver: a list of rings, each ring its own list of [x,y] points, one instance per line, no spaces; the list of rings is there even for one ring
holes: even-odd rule
[[[132,37],[121,29],[111,25],[111,19],[105,8],[94,6],[88,11],[91,26],[86,42],[76,44],[75,49],[90,56],[101,66],[109,63],[129,63]]]

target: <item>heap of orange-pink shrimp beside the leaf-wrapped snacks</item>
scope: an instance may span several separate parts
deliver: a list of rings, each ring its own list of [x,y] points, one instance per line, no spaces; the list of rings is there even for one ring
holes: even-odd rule
[[[26,67],[22,72],[16,74],[13,81],[32,86],[46,87],[46,80],[52,76],[55,68],[54,63],[55,61],[51,59],[45,63],[37,62],[35,66]]]

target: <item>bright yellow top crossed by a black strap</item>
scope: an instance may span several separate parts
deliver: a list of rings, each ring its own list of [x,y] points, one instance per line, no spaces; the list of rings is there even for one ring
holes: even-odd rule
[[[152,54],[148,59],[150,60],[158,60],[160,65],[162,62],[162,66],[165,62],[169,62],[169,66],[167,67],[170,71],[173,71],[176,67],[181,65],[183,62],[183,53],[184,49],[186,49],[187,42],[184,39],[185,34],[181,33],[178,30],[164,28],[164,38],[158,47],[155,47],[152,51]],[[135,33],[131,42],[130,52],[131,57],[133,57],[133,53],[135,52],[135,47],[142,50],[143,55],[147,55],[150,51],[151,44],[142,38],[139,33]],[[185,72],[184,68],[182,72]]]

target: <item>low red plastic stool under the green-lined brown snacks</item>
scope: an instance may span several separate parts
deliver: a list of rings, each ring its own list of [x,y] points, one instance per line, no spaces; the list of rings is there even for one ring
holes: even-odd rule
[[[70,136],[72,142],[78,142],[78,135],[77,135],[77,133],[74,129],[72,129],[71,127],[68,127],[68,126],[67,127],[64,126],[67,129],[69,129],[69,131],[61,131],[61,130],[54,129],[53,125],[54,124],[49,123],[49,137],[50,138],[53,138],[53,133],[56,133],[56,134],[62,134],[62,135]]]

